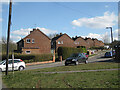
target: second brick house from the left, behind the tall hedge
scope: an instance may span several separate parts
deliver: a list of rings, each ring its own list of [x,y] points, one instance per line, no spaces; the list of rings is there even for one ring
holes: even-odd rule
[[[54,37],[51,41],[52,49],[57,51],[58,47],[74,47],[74,41],[66,33]]]

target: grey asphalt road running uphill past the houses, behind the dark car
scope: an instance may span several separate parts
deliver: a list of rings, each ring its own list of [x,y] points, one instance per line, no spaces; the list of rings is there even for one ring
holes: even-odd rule
[[[96,56],[92,56],[88,59],[89,63],[94,62],[105,62],[110,61],[112,58],[104,58],[104,52],[99,53]],[[58,67],[58,66],[64,66],[64,61],[62,62],[55,62],[55,63],[48,63],[48,64],[40,64],[40,65],[31,65],[27,66],[25,70],[32,70],[32,69],[40,69],[40,68],[49,68],[49,67]]]

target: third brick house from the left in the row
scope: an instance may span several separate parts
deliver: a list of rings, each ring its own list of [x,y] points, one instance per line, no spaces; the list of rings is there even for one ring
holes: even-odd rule
[[[82,37],[75,37],[75,38],[72,38],[74,40],[74,44],[75,44],[75,47],[78,47],[78,46],[85,46],[86,48],[89,48],[88,46],[88,43],[84,40],[84,38]]]

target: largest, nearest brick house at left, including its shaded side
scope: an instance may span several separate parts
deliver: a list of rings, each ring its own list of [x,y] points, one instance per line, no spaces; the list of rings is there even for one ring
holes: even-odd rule
[[[17,42],[17,52],[22,54],[44,54],[51,52],[51,40],[39,29]]]

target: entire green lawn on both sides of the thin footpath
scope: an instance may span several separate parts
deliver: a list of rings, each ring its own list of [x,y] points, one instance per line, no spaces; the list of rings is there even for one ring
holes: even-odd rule
[[[118,68],[118,63],[89,63],[37,70],[9,72],[3,81],[9,88],[118,88],[118,71],[43,74],[47,71],[70,71]]]

